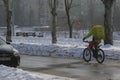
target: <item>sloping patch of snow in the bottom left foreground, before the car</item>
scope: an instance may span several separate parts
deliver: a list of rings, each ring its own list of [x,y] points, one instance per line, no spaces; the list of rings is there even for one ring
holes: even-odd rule
[[[0,65],[0,80],[74,80]]]

